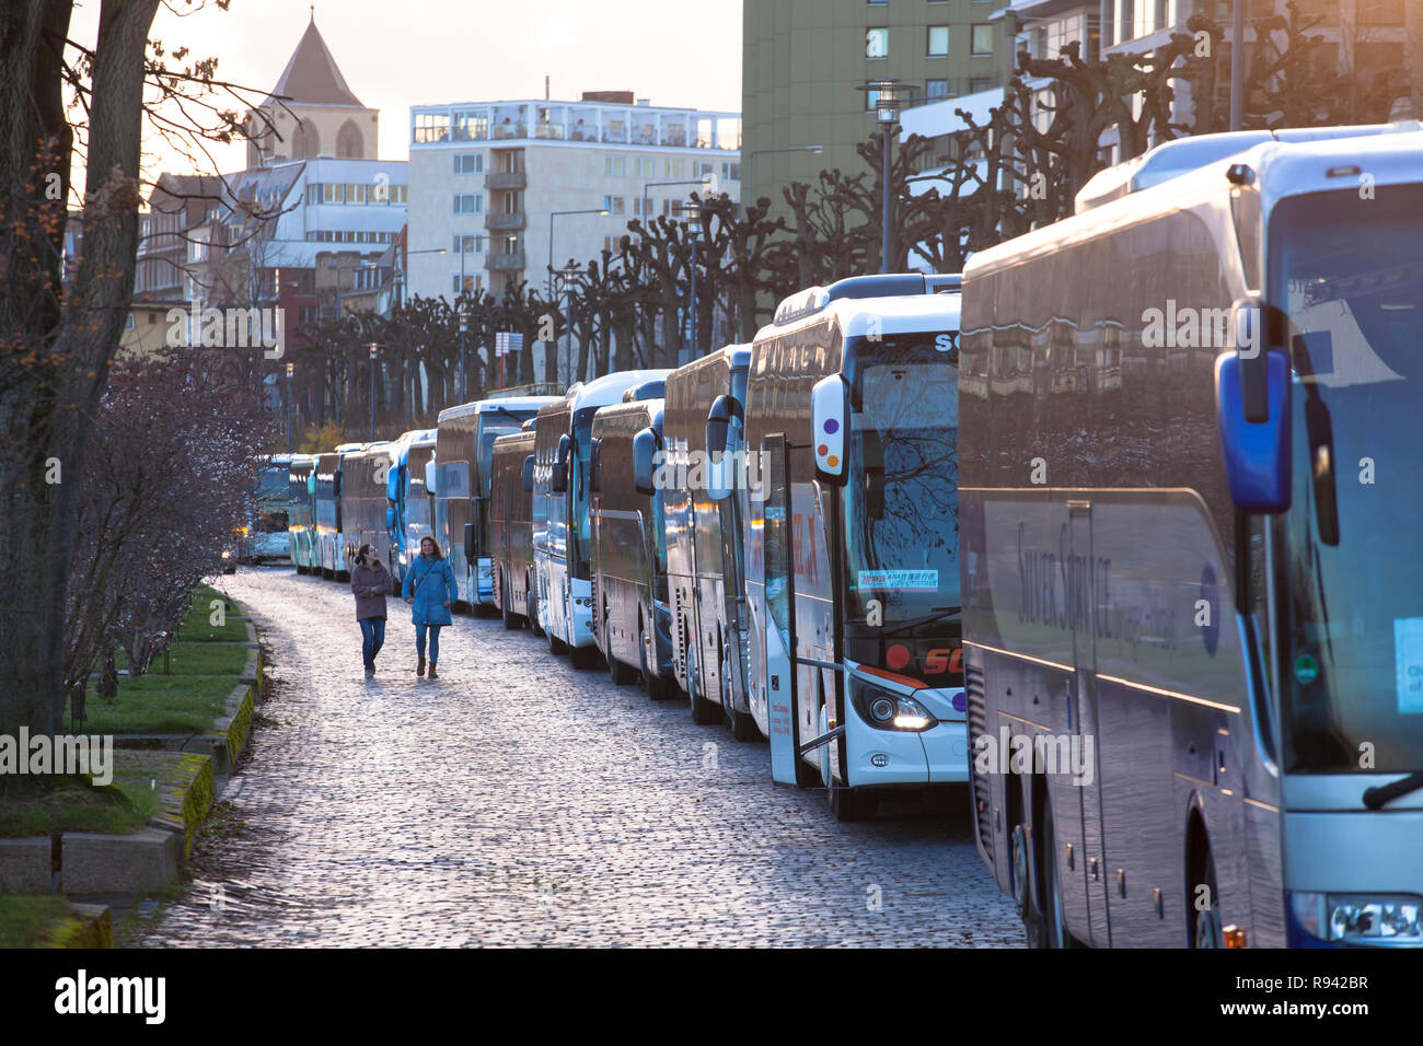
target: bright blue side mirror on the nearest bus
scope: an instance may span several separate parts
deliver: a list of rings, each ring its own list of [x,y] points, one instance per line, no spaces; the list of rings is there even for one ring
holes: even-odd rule
[[[1262,352],[1259,360],[1266,420],[1249,420],[1247,367],[1254,360],[1229,352],[1215,360],[1215,413],[1231,501],[1242,512],[1275,514],[1289,508],[1289,361],[1278,352]]]

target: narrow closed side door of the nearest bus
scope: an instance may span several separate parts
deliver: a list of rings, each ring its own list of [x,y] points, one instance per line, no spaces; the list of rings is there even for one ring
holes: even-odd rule
[[[1107,918],[1107,868],[1106,840],[1101,818],[1101,733],[1097,714],[1097,640],[1093,632],[1096,616],[1096,571],[1091,558],[1091,504],[1069,501],[1067,518],[1072,529],[1072,562],[1067,578],[1069,618],[1073,623],[1073,719],[1080,737],[1091,737],[1091,751],[1096,766],[1091,783],[1076,786],[1070,777],[1060,776],[1056,781],[1057,794],[1077,793],[1081,810],[1083,860],[1069,871],[1069,881],[1083,877],[1087,891],[1087,924],[1091,944],[1099,948],[1111,946],[1110,921]],[[1086,750],[1086,746],[1084,749]],[[1074,805],[1072,800],[1067,808]]]

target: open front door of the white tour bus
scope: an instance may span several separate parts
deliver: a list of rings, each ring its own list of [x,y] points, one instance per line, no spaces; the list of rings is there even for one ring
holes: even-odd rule
[[[791,549],[791,488],[785,437],[767,435],[766,522],[761,529],[766,561],[766,689],[770,720],[771,778],[795,784],[795,569]]]

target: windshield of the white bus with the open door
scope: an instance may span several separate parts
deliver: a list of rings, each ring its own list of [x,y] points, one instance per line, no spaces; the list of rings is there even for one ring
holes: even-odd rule
[[[958,353],[935,334],[859,340],[845,500],[848,616],[884,620],[959,606]]]

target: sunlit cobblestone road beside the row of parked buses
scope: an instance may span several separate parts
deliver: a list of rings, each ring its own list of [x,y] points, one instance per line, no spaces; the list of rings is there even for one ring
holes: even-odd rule
[[[275,722],[134,944],[1023,944],[962,788],[837,824],[771,783],[764,743],[529,632],[457,616],[441,677],[417,679],[391,601],[367,683],[347,586],[259,568],[222,588],[263,629]]]

